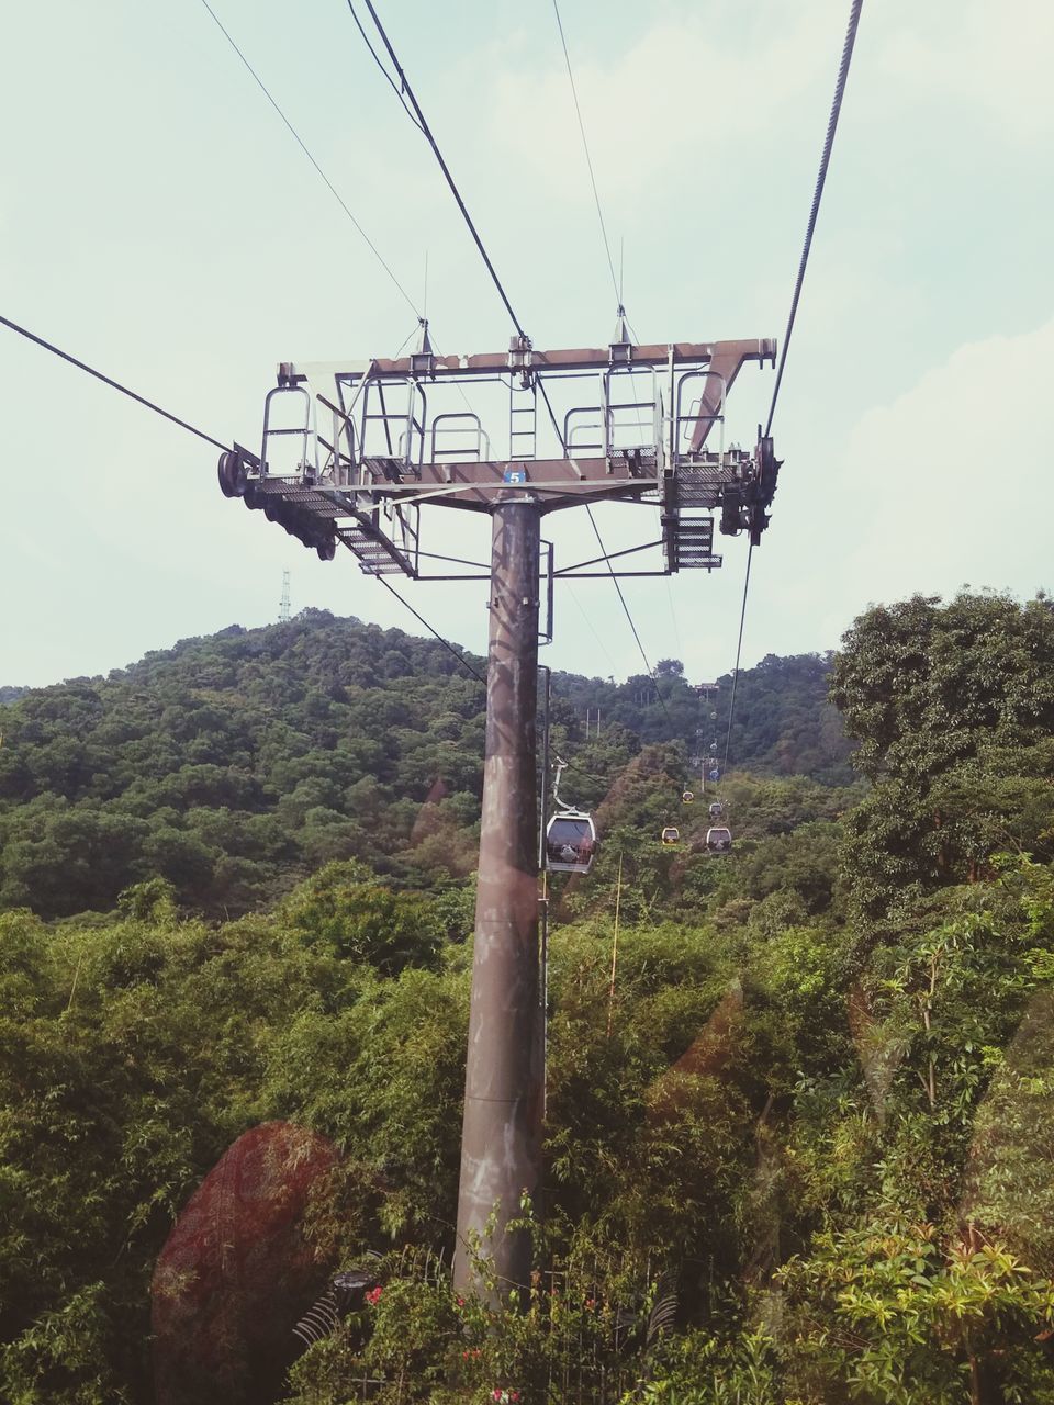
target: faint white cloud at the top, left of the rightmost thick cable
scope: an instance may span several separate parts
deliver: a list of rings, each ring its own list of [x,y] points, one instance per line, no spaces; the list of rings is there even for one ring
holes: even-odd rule
[[[665,10],[607,60],[592,56],[586,37],[565,17],[601,198],[625,200],[658,185],[666,200],[656,215],[673,214],[684,197],[694,207],[700,191],[720,205],[735,148],[745,136],[773,131],[816,74],[831,69],[831,20],[839,13],[833,0],[763,6],[745,42],[738,7]],[[592,202],[555,24],[552,31],[552,58],[542,72],[497,77],[492,129],[547,195]]]

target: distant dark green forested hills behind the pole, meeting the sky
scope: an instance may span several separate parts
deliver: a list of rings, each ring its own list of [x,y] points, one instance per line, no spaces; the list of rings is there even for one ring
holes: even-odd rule
[[[731,764],[845,784],[828,667],[804,656],[748,670]],[[651,679],[555,674],[554,740],[589,773],[565,790],[599,804],[642,740],[676,740],[677,795],[711,732],[724,754],[729,684],[714,721],[676,660],[659,669],[662,701]],[[332,858],[401,885],[461,880],[475,867],[483,708],[483,686],[438,642],[322,611],[25,693],[0,708],[0,905],[108,910],[163,877],[181,903],[232,916]]]

